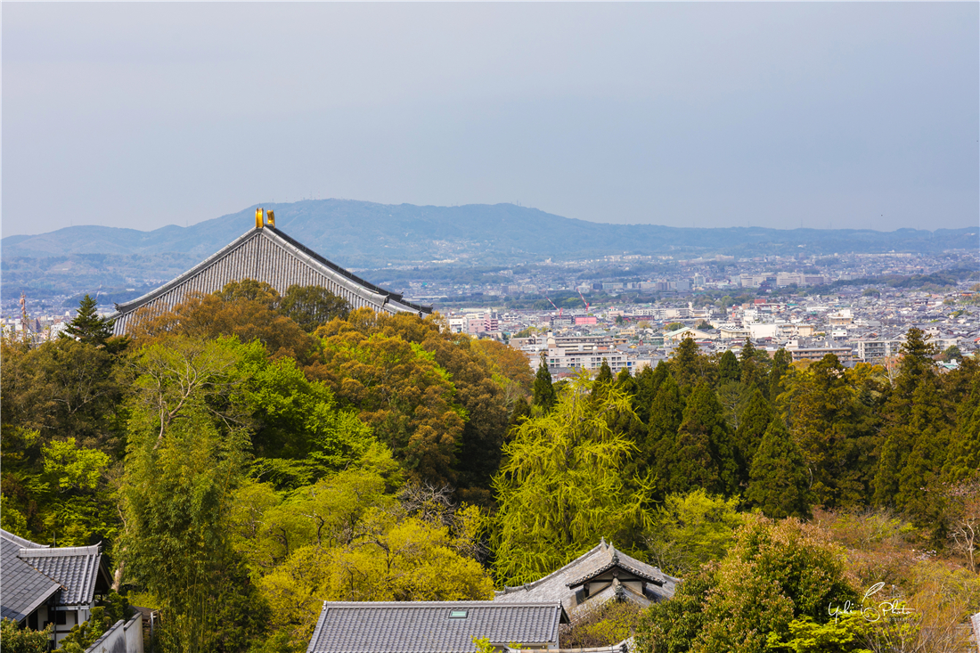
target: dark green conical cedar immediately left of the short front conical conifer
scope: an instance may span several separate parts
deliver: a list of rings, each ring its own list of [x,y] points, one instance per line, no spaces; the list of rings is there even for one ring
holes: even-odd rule
[[[737,467],[721,404],[708,383],[698,383],[688,397],[677,443],[666,461],[667,491],[703,487],[730,496],[737,487]]]

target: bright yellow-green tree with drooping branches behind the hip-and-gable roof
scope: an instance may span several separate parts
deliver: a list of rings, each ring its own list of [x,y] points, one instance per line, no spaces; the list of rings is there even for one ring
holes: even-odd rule
[[[575,377],[552,413],[525,421],[504,446],[492,535],[502,583],[541,578],[645,519],[646,496],[622,475],[635,446],[608,421],[630,412],[629,398],[613,386],[593,401],[593,382]]]

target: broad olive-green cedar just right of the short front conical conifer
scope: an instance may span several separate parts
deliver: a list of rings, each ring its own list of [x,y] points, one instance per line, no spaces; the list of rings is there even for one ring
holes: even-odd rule
[[[814,501],[828,508],[863,504],[878,438],[853,371],[827,354],[799,377],[790,407],[791,431],[813,474]]]

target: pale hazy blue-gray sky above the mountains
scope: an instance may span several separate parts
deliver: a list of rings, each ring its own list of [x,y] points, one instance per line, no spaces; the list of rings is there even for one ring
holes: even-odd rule
[[[307,197],[976,226],[971,3],[4,2],[3,234]]]

